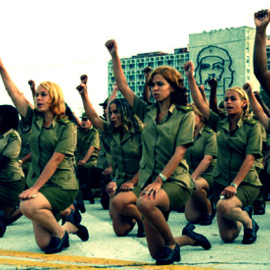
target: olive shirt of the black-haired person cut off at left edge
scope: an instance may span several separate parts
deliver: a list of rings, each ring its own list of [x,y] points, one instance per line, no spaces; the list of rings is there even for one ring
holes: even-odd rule
[[[0,155],[10,158],[7,165],[0,169],[0,181],[18,181],[24,174],[17,158],[21,151],[21,138],[18,132],[10,129],[0,136]]]

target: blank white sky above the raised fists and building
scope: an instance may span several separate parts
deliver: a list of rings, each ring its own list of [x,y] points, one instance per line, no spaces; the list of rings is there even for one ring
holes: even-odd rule
[[[270,8],[266,0],[0,0],[0,5],[0,57],[19,90],[31,101],[30,79],[37,85],[53,81],[76,114],[82,104],[76,86],[83,74],[101,114],[108,39],[117,41],[120,57],[172,53],[187,46],[189,34],[254,27],[254,12]],[[0,104],[12,104],[2,83]]]

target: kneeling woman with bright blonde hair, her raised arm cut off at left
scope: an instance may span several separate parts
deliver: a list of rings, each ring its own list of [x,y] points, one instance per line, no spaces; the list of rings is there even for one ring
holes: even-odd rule
[[[27,175],[20,209],[33,222],[38,246],[45,253],[60,252],[69,246],[66,224],[58,224],[60,212],[76,198],[78,181],[74,170],[75,125],[65,117],[61,88],[41,83],[36,92],[36,109],[28,106],[10,78],[2,61],[0,73],[6,90],[19,113],[31,124],[31,166]]]

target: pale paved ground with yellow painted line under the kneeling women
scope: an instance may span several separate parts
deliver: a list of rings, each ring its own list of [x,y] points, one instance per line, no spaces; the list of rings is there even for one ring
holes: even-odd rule
[[[219,238],[216,220],[211,226],[196,226],[212,243],[208,251],[200,247],[181,248],[181,262],[156,266],[151,259],[145,238],[137,238],[137,228],[127,237],[113,233],[108,211],[97,201],[82,214],[90,239],[81,242],[70,236],[70,247],[60,254],[45,255],[35,244],[31,222],[22,217],[9,226],[0,239],[0,269],[270,269],[270,205],[266,214],[254,216],[260,226],[253,245],[242,245],[243,234],[233,244]],[[172,212],[169,224],[174,235],[180,235],[186,224],[184,214]]]

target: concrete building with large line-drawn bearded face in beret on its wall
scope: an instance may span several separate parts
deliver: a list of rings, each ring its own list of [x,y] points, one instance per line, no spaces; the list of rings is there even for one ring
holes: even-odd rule
[[[218,101],[223,99],[224,91],[231,86],[242,86],[249,81],[253,89],[259,89],[259,83],[253,74],[253,48],[255,29],[251,27],[226,28],[189,35],[186,48],[175,49],[173,54],[164,52],[144,53],[121,59],[129,87],[142,96],[145,78],[143,69],[169,65],[184,75],[183,65],[189,59],[195,65],[197,83],[205,86],[209,96],[207,81],[216,78],[218,82]],[[270,47],[267,48],[270,59]],[[270,60],[268,62],[270,67]],[[115,81],[112,62],[108,63],[108,93]],[[184,83],[188,88],[184,75]]]

